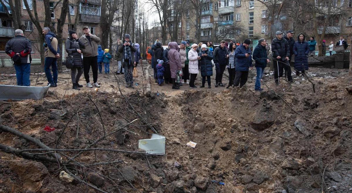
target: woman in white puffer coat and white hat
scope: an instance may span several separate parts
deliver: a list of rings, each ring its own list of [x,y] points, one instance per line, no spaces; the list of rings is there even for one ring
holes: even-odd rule
[[[198,56],[197,52],[197,44],[193,44],[192,49],[188,52],[188,71],[190,74],[190,80],[189,80],[189,87],[191,88],[197,88],[194,86],[194,81],[196,80],[197,74],[198,74],[198,60],[200,57]]]

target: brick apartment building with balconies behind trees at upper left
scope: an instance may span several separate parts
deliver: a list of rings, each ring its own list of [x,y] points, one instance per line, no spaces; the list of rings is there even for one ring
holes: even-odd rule
[[[33,9],[32,0],[27,0],[27,2],[32,13],[34,14],[34,11],[38,13],[40,24],[42,27],[44,27],[43,1],[40,1],[40,0],[36,1],[37,10],[32,10]],[[50,8],[53,8],[57,2],[58,0],[50,1]],[[10,6],[6,5],[6,7],[11,13]],[[56,18],[60,17],[61,8],[62,8],[62,3],[59,3],[55,8],[54,12],[51,13],[51,21],[55,29],[57,27]],[[71,21],[69,22],[69,19],[67,16],[65,20],[65,24],[63,26],[63,41],[65,41],[66,37],[69,36],[68,34],[69,29],[75,30],[78,36],[81,36],[83,26],[89,26],[90,33],[95,34],[97,36],[101,36],[101,29],[99,25],[100,15],[101,15],[100,0],[89,0],[88,2],[81,0],[79,2],[79,5],[77,4],[77,1],[70,0],[69,14],[70,14]],[[74,28],[75,18],[77,16],[79,17],[78,18],[79,22],[77,24],[77,27]],[[43,35],[43,34],[41,31],[38,32],[38,30],[36,29],[36,26],[33,25],[33,22],[30,19],[30,16],[26,10],[26,7],[23,1],[22,1],[22,7],[21,7],[21,20],[25,26],[24,35],[32,41],[32,45],[33,45],[32,63],[38,63],[38,61],[40,62],[39,49],[40,49],[40,46],[42,46],[39,44],[39,35]],[[9,39],[14,37],[15,29],[13,27],[13,23],[12,23],[13,21],[11,21],[11,19],[8,17],[4,7],[2,7],[1,4],[0,4],[0,21],[1,21],[0,22],[0,55],[3,56],[5,54],[4,51],[5,51],[6,42]],[[64,47],[64,42],[62,42],[62,44]],[[65,52],[63,50],[61,55],[64,57],[64,54]]]

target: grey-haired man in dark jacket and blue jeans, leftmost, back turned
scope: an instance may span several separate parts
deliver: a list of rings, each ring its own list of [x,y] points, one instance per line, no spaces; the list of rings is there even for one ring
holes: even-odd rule
[[[21,29],[15,30],[15,37],[8,40],[5,46],[5,52],[14,63],[18,86],[30,86],[29,75],[31,73],[31,51],[32,43],[23,36]]]

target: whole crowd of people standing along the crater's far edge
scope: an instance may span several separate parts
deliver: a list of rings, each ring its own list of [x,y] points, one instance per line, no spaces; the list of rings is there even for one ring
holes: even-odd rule
[[[71,80],[73,89],[80,90],[83,85],[78,82],[82,73],[86,80],[88,88],[100,87],[98,84],[98,71],[105,74],[110,73],[109,49],[103,49],[98,45],[100,38],[90,34],[88,26],[82,28],[83,35],[78,38],[75,31],[69,30],[69,37],[65,41],[65,51],[72,56],[73,66],[71,67]],[[49,27],[43,28],[45,36],[44,50],[45,62],[44,71],[51,87],[57,86],[57,59],[61,57],[58,41]],[[308,56],[315,55],[316,41],[310,37],[309,41],[303,33],[298,34],[297,39],[293,38],[293,31],[287,31],[283,34],[281,31],[276,32],[276,38],[271,41],[272,65],[274,65],[274,79],[278,85],[280,78],[285,72],[285,76],[290,83],[293,83],[291,75],[290,60],[295,55],[294,69],[296,70],[296,79],[304,80],[305,71],[308,70]],[[222,40],[220,45],[215,48],[212,41],[203,44],[192,44],[188,41],[169,42],[168,47],[164,49],[162,43],[156,40],[151,46],[151,66],[154,71],[155,83],[159,86],[172,84],[172,89],[180,89],[183,84],[188,84],[190,88],[197,88],[195,80],[200,73],[202,77],[201,88],[205,87],[207,81],[208,88],[211,88],[211,76],[213,76],[213,67],[215,66],[215,87],[225,87],[226,83],[222,82],[223,74],[227,68],[229,82],[226,88],[243,87],[248,79],[249,71],[253,68],[254,61],[257,77],[254,86],[255,91],[263,91],[261,82],[263,81],[264,69],[270,62],[268,54],[270,47],[265,39],[259,39],[258,45],[254,45],[253,53],[250,49],[250,39],[245,39],[242,44],[230,39],[230,42]],[[126,87],[134,88],[133,68],[137,67],[139,61],[142,62],[139,44],[131,42],[129,34],[124,35],[124,41],[117,40],[116,59],[118,69],[115,74],[124,74]],[[323,48],[326,47],[323,40]],[[340,37],[335,46],[347,48],[347,42]],[[334,44],[328,46],[330,55],[332,54]],[[30,86],[30,63],[31,63],[32,45],[29,39],[24,37],[21,29],[15,30],[15,38],[9,40],[6,44],[5,51],[11,56],[17,75],[17,85]],[[83,55],[83,57],[82,57]],[[51,71],[50,71],[51,68]],[[92,68],[93,84],[90,82],[89,71]]]

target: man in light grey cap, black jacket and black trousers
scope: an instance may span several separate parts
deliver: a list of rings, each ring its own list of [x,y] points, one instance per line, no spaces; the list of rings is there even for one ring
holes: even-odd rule
[[[279,77],[283,75],[283,69],[287,72],[287,79],[290,83],[294,80],[291,75],[291,67],[289,64],[290,45],[282,38],[282,32],[277,31],[276,38],[271,41],[272,64],[274,65],[274,78],[276,85],[279,84]]]

